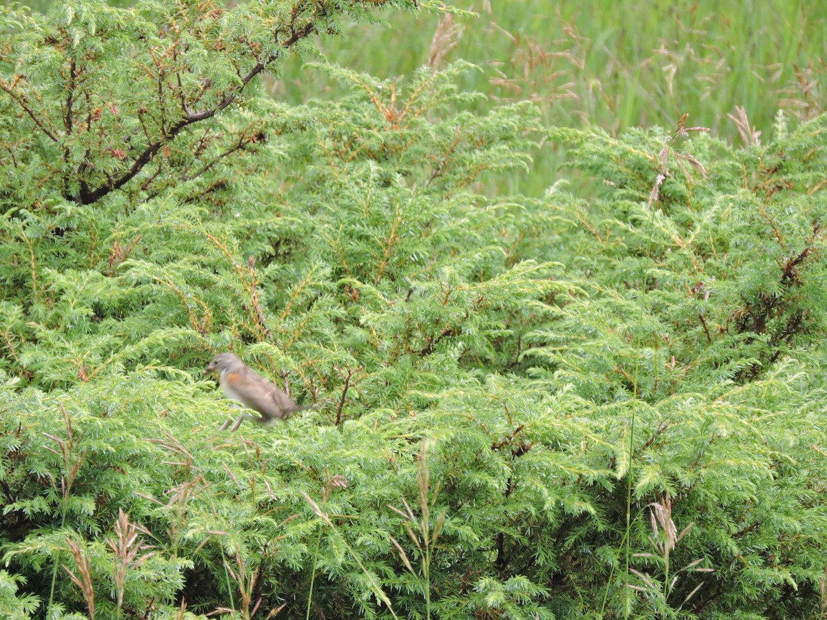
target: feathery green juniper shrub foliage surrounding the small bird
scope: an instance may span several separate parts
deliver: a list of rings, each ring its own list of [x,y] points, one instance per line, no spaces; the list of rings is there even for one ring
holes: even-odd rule
[[[262,93],[431,4],[2,10],[4,618],[825,613],[825,119]],[[590,198],[491,196],[541,141]],[[219,432],[223,350],[320,408]]]

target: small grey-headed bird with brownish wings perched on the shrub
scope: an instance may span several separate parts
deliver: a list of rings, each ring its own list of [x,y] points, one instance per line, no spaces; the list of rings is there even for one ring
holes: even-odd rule
[[[219,353],[204,370],[204,374],[218,374],[218,383],[224,395],[237,400],[248,409],[261,414],[261,417],[244,413],[238,418],[235,431],[242,420],[252,420],[260,424],[269,424],[278,419],[289,417],[291,413],[311,409],[313,405],[297,405],[283,390],[252,370],[232,353]],[[222,429],[226,428],[225,424]]]

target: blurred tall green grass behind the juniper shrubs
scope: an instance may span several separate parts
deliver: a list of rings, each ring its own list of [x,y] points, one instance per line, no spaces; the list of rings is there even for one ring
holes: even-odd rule
[[[8,2],[8,0],[5,0]],[[53,2],[29,2],[47,10]],[[130,2],[112,2],[126,5]],[[385,26],[344,24],[323,39],[328,60],[378,78],[406,74],[438,55],[480,67],[463,86],[485,93],[485,107],[532,100],[547,126],[594,124],[611,134],[630,126],[710,127],[738,143],[729,115],[743,107],[764,136],[779,109],[801,120],[825,110],[827,2],[761,0],[459,0],[475,16],[442,21],[388,12]],[[269,76],[270,93],[289,103],[337,98],[327,74],[290,57]],[[543,147],[533,174],[500,190],[542,193],[564,156]]]

